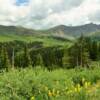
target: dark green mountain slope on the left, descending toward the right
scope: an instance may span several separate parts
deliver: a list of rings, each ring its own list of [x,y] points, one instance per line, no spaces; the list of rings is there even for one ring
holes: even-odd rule
[[[52,34],[49,34],[49,31],[46,30],[34,30],[34,29],[27,29],[27,28],[23,28],[23,27],[17,27],[17,26],[3,26],[0,25],[0,35],[4,35],[5,36],[9,36],[9,35],[32,35],[32,36],[44,36],[44,37],[52,37],[52,38],[61,38],[63,39],[63,37],[59,36],[52,36]],[[56,39],[57,39],[56,38]],[[70,40],[69,36],[68,37],[64,37],[64,39],[68,39]]]

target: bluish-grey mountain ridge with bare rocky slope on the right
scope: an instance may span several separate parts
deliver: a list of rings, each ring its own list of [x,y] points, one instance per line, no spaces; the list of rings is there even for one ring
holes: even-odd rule
[[[51,34],[56,34],[56,35],[62,35],[62,36],[68,35],[68,36],[78,37],[81,34],[88,35],[89,33],[100,31],[100,25],[96,25],[93,23],[85,24],[81,26],[60,25],[48,29],[47,31]]]

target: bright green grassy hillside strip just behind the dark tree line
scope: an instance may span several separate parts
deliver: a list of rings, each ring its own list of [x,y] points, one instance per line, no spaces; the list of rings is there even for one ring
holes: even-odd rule
[[[71,44],[70,41],[63,41],[54,39],[52,37],[46,37],[46,36],[35,36],[35,35],[15,35],[15,34],[1,34],[0,35],[0,42],[9,42],[9,41],[25,41],[25,42],[43,42],[44,46],[54,46],[54,45],[62,45],[66,46]]]

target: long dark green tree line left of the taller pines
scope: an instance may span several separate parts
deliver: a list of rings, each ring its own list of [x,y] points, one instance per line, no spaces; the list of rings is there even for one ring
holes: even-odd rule
[[[61,46],[44,47],[42,42],[12,41],[0,43],[0,69],[63,66]]]

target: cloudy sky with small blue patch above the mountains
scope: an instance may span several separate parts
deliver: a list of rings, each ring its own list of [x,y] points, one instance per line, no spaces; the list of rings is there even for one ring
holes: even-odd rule
[[[0,0],[0,25],[46,29],[100,24],[100,0]]]

